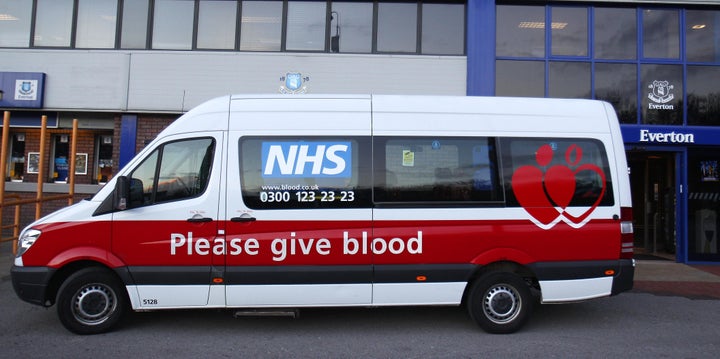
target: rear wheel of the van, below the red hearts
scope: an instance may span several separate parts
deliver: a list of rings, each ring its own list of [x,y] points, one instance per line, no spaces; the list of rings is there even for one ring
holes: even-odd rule
[[[507,272],[490,272],[478,278],[468,296],[470,317],[486,332],[508,334],[518,331],[533,307],[530,287]]]

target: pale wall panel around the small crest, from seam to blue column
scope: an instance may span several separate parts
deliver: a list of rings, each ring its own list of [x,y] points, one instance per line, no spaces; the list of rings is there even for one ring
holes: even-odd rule
[[[128,109],[187,111],[229,93],[278,93],[288,72],[308,93],[464,95],[465,57],[294,53],[132,54]]]

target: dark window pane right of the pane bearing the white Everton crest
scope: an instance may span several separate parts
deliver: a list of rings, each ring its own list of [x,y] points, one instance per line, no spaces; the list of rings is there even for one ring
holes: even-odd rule
[[[688,125],[720,126],[720,67],[687,67]]]

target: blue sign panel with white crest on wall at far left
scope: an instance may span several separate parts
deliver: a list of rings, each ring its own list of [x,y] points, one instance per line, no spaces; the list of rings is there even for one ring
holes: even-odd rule
[[[45,74],[42,72],[0,72],[3,108],[42,108]]]

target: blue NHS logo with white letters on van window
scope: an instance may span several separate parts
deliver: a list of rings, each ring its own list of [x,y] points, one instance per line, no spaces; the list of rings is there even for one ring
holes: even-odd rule
[[[350,142],[263,142],[263,177],[351,177]]]

